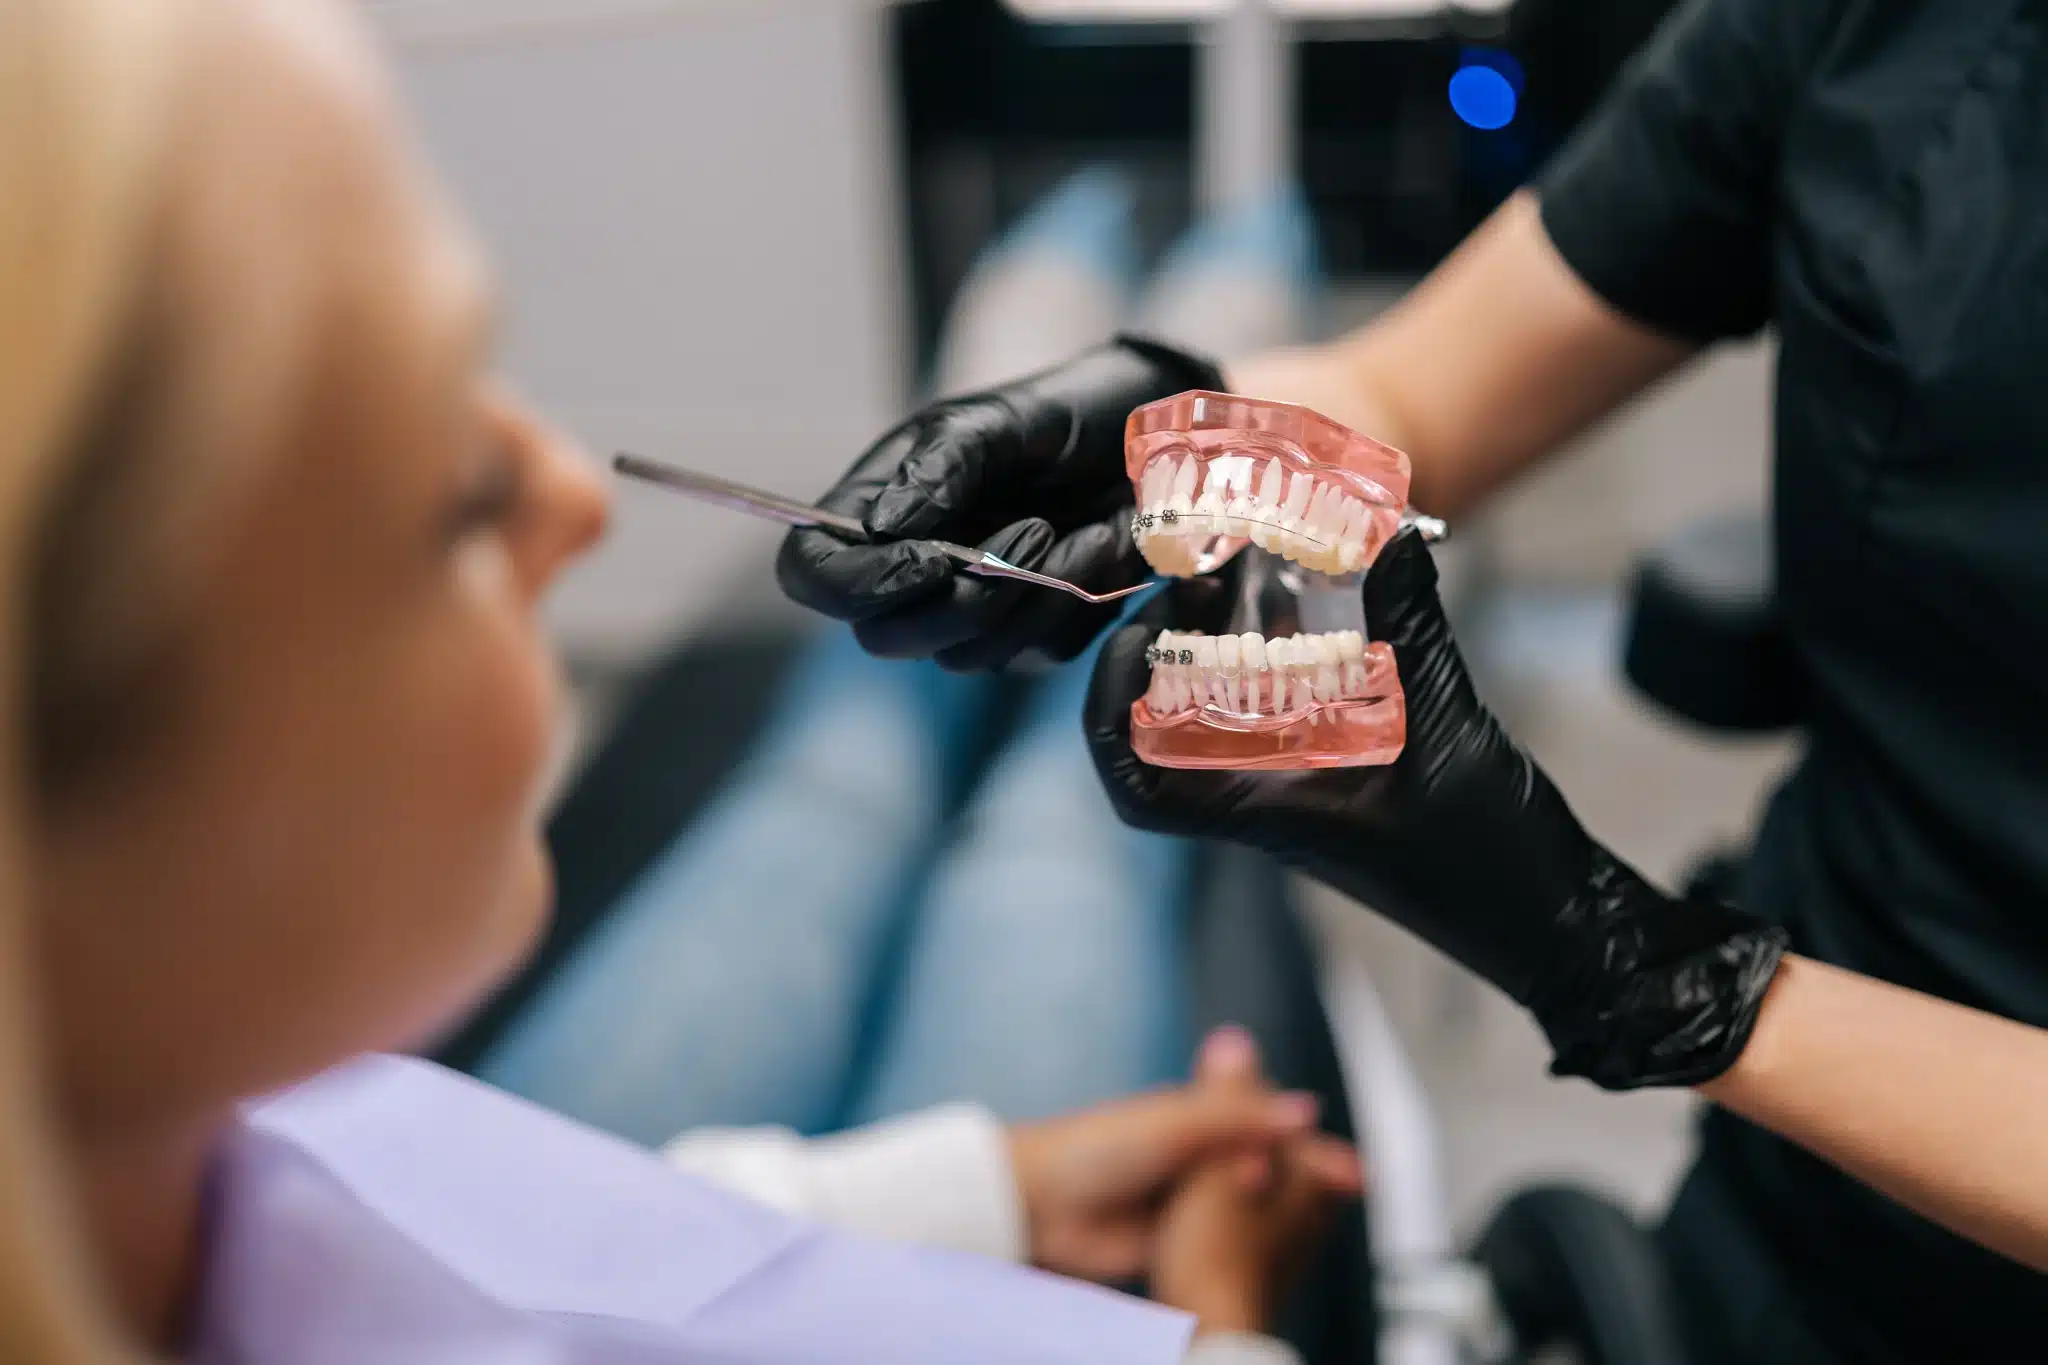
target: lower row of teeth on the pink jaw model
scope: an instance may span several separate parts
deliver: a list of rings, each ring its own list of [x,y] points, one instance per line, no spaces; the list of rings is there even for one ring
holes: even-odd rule
[[[1315,702],[1368,696],[1366,636],[1358,630],[1264,639],[1161,630],[1145,702],[1155,714],[1219,706],[1237,714],[1286,714]]]

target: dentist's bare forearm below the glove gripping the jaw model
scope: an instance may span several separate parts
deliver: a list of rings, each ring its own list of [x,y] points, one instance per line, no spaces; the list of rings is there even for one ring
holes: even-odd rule
[[[2048,1271],[2048,1031],[1786,958],[1743,1056],[1700,1093]]]

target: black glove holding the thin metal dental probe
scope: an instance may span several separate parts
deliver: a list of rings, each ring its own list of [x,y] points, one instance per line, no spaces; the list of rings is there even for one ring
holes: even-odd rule
[[[936,657],[958,671],[999,669],[1020,655],[1071,659],[1116,620],[1116,606],[973,577],[903,540],[977,544],[1092,591],[1141,583],[1124,420],[1145,403],[1221,387],[1206,360],[1116,338],[1040,375],[934,403],[819,499],[885,542],[795,530],[776,559],[782,591],[854,622],[860,643],[891,659]]]

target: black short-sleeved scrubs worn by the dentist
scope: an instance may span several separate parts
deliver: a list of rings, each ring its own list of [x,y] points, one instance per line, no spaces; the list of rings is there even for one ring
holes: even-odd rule
[[[1749,909],[1798,952],[2034,1025],[2044,31],[2048,0],[1696,0],[1540,182],[1559,252],[1618,311],[1698,342],[1778,332],[1778,593],[1812,722]],[[1702,1140],[1673,1224],[1739,1248],[1681,1265],[1729,1359],[2048,1359],[2048,1279],[1739,1119]]]

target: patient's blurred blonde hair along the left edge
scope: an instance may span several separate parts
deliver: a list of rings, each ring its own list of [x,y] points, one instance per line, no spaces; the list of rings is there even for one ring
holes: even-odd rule
[[[0,0],[0,1359],[121,1359],[47,1134],[23,972],[29,575],[125,344],[190,0]]]

